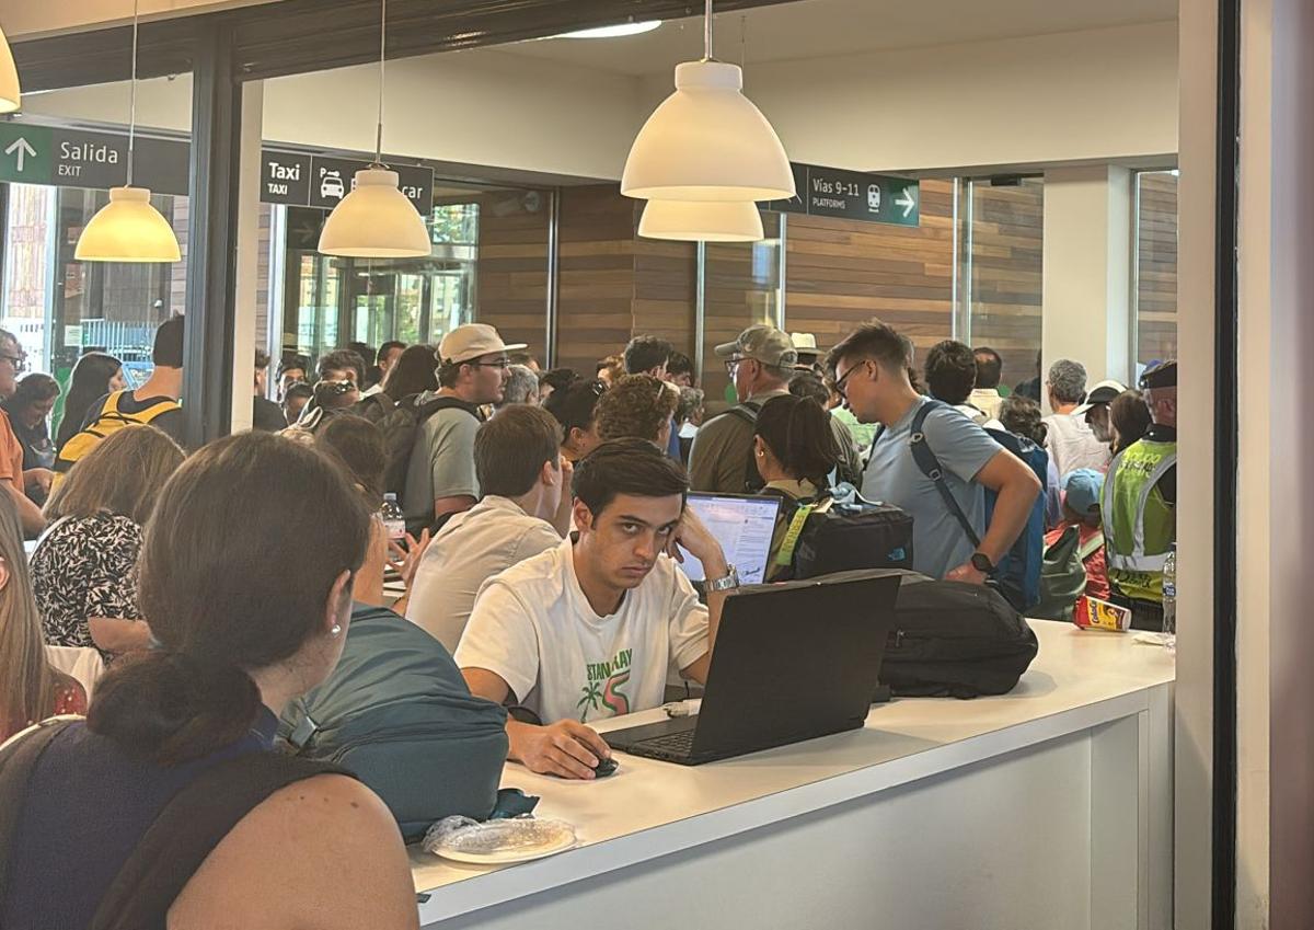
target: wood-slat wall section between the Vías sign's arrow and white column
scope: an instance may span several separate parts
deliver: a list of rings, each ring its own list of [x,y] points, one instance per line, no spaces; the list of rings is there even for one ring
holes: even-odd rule
[[[1035,377],[1042,331],[1045,184],[974,185],[971,343],[1004,360],[1009,388]]]

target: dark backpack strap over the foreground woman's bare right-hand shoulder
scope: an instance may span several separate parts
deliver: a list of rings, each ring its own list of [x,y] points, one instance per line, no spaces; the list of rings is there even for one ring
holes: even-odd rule
[[[246,753],[179,791],[155,817],[101,898],[91,930],[163,930],[168,909],[214,847],[280,788],[351,772],[283,753]]]

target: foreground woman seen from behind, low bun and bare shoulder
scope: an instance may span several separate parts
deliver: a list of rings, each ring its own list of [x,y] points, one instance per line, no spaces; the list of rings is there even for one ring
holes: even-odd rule
[[[154,648],[114,663],[85,724],[5,746],[49,738],[0,835],[0,926],[417,926],[388,808],[272,751],[284,705],[342,654],[368,540],[342,469],[286,439],[230,436],[173,474],[139,562]]]

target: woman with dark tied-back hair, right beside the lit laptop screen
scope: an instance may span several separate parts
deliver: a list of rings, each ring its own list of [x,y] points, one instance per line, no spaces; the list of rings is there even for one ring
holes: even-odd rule
[[[761,493],[784,498],[786,503],[775,520],[766,565],[766,579],[773,581],[786,573],[775,557],[796,510],[794,504],[827,497],[829,476],[841,461],[830,414],[809,397],[773,397],[757,415],[753,457],[766,482]]]

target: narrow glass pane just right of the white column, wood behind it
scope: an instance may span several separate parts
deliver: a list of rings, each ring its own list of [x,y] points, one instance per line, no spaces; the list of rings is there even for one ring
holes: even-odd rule
[[[1177,172],[1137,173],[1137,376],[1154,361],[1177,357]]]

